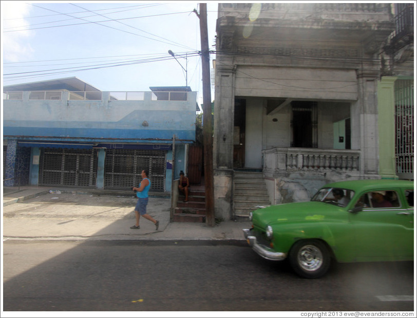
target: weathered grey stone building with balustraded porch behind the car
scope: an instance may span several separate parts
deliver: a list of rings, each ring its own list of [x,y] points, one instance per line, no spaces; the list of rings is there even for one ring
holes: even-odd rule
[[[259,183],[278,204],[309,200],[331,181],[397,177],[393,156],[381,170],[381,149],[394,149],[395,133],[381,139],[393,118],[378,108],[393,17],[388,3],[219,4],[218,216],[248,216]]]

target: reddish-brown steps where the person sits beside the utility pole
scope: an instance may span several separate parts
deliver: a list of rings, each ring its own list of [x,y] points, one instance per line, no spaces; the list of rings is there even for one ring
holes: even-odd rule
[[[190,186],[188,202],[185,203],[184,195],[178,198],[177,208],[174,209],[174,222],[205,222],[205,191],[195,189],[201,187]],[[194,188],[194,189],[193,189]]]

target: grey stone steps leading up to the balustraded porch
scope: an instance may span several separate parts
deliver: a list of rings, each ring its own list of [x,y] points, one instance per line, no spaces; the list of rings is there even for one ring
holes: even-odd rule
[[[249,217],[257,205],[271,205],[262,172],[235,171],[233,212],[236,219]]]

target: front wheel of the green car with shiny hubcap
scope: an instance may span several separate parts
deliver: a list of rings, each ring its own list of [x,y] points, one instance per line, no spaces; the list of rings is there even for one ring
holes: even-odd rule
[[[330,253],[319,240],[298,241],[292,247],[289,260],[293,270],[305,278],[318,278],[330,268]]]

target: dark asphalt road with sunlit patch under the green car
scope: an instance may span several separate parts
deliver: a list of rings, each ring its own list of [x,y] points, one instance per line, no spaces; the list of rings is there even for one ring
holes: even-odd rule
[[[6,313],[414,308],[412,262],[338,264],[304,279],[244,242],[10,240],[3,253]]]

